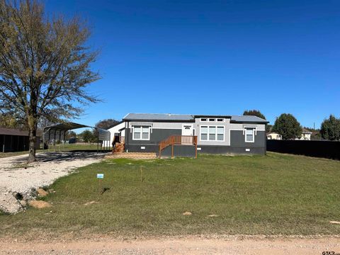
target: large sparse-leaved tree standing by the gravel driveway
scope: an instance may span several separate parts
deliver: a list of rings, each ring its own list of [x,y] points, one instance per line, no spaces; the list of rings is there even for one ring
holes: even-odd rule
[[[78,116],[81,106],[98,101],[86,85],[99,79],[91,71],[98,52],[78,18],[48,19],[35,0],[0,0],[0,108],[27,123],[29,162],[41,117],[58,121]]]

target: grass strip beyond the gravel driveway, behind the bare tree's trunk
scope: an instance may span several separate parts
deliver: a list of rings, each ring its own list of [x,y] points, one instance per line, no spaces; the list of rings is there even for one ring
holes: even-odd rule
[[[45,152],[60,152],[60,151],[74,151],[74,150],[94,150],[97,149],[96,145],[76,145],[76,144],[70,144],[70,145],[50,145],[50,150],[45,149]],[[37,149],[36,151],[38,152],[43,152],[42,149]],[[13,157],[13,156],[19,156],[19,155],[25,155],[28,154],[28,151],[23,151],[23,152],[0,152],[0,159],[5,158],[5,157]]]

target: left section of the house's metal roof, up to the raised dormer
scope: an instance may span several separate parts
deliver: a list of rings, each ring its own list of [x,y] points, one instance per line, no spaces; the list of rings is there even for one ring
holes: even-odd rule
[[[193,115],[171,113],[129,113],[123,120],[193,121]]]

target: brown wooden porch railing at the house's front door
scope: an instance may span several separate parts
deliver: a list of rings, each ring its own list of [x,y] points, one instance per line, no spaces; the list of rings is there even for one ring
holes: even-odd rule
[[[174,157],[174,145],[195,145],[195,157],[197,158],[197,136],[195,135],[171,135],[159,142],[159,158],[162,150],[171,145],[171,158]]]

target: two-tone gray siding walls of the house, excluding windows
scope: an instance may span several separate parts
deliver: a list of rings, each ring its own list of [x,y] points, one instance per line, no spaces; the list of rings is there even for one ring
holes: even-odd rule
[[[182,125],[188,123],[166,123],[166,122],[130,122],[127,123],[125,129],[125,150],[128,152],[158,152],[159,142],[171,135],[181,135]],[[132,140],[131,125],[150,125],[150,139],[149,140]],[[223,142],[217,141],[200,141],[200,126],[201,125],[215,125],[225,127],[225,140]],[[256,135],[254,142],[245,142],[244,140],[244,126],[256,126]],[[196,119],[193,123],[195,135],[198,136],[198,153],[217,153],[217,154],[265,154],[266,153],[266,125],[263,124],[241,124],[230,123],[229,119],[225,122],[200,122]],[[142,147],[144,147],[142,149]],[[175,154],[182,157],[191,157],[191,150],[194,147],[181,145],[176,149]],[[169,151],[169,152],[168,152]],[[164,149],[163,155],[171,155],[171,147]],[[181,155],[180,155],[181,154]]]

